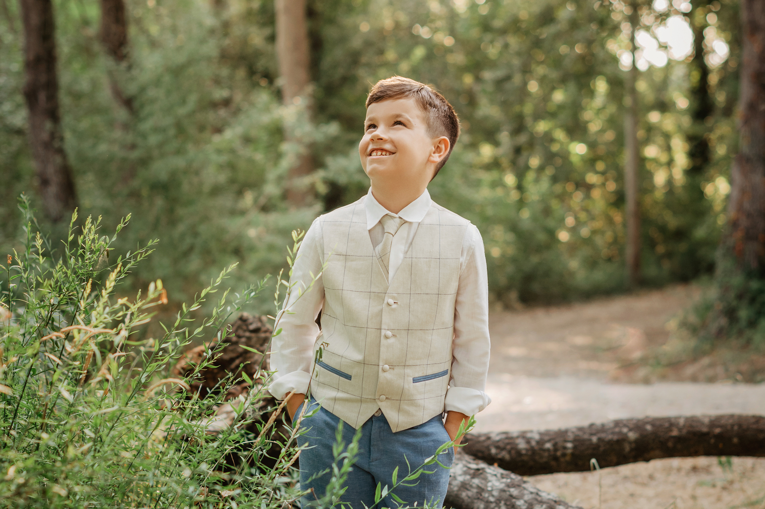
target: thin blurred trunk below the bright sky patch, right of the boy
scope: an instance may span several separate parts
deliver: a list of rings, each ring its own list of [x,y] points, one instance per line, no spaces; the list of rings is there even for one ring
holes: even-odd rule
[[[632,34],[630,41],[633,50],[635,48],[635,31],[637,30],[637,8],[633,6],[630,13]],[[640,207],[638,206],[637,177],[639,158],[637,153],[637,93],[635,80],[637,67],[633,51],[632,67],[627,70],[624,79],[624,197],[626,202],[625,220],[627,221],[627,246],[625,250],[625,262],[627,272],[627,286],[630,288],[640,284]]]

